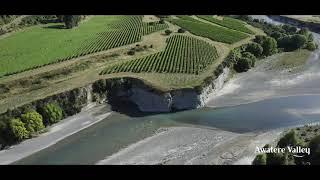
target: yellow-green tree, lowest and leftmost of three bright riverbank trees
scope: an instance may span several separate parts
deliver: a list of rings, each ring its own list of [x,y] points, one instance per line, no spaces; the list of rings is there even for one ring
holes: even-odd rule
[[[11,119],[9,125],[12,134],[17,140],[22,141],[29,137],[30,132],[26,129],[25,124],[19,118]]]

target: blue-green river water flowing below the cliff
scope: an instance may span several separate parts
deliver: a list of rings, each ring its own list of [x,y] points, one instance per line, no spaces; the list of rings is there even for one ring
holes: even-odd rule
[[[320,95],[276,98],[234,107],[202,108],[140,118],[115,113],[14,164],[94,164],[166,126],[200,125],[244,133],[314,122],[320,122]]]

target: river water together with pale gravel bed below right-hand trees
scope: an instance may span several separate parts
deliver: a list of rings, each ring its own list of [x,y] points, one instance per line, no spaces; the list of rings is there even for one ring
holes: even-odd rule
[[[255,18],[277,23],[267,16]],[[319,40],[318,34],[315,37]],[[312,54],[301,74],[280,75],[261,69],[239,74],[201,109],[142,117],[114,112],[14,164],[95,164],[161,127],[206,126],[247,133],[320,122],[319,54]]]

